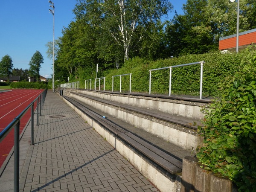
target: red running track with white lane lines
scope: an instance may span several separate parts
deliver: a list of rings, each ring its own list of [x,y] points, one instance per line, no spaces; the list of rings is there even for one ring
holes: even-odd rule
[[[17,117],[37,96],[44,90],[34,89],[17,89],[9,92],[0,93],[0,132],[9,125],[12,120]],[[34,104],[34,110],[37,102]],[[20,133],[29,121],[31,110],[20,120]],[[14,129],[0,143],[0,167],[6,160],[9,152],[14,145]]]

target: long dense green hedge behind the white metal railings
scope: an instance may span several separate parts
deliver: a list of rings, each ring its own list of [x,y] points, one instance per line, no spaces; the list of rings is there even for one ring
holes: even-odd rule
[[[247,54],[247,50],[236,53],[221,54],[219,51],[198,55],[184,55],[179,58],[147,61],[142,58],[133,58],[125,62],[118,70],[108,70],[103,74],[105,89],[112,90],[112,76],[132,73],[132,91],[149,91],[149,70],[205,61],[203,74],[203,95],[217,96],[220,81],[237,72],[238,66]],[[114,78],[114,90],[119,90],[120,78]],[[94,82],[94,80],[93,80]],[[122,76],[122,90],[129,89],[129,76]],[[200,90],[200,64],[172,69],[172,93],[199,95]],[[152,71],[151,92],[169,92],[169,69]]]

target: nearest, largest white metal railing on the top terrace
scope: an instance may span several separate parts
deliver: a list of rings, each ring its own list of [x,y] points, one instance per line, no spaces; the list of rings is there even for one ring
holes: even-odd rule
[[[172,68],[175,67],[183,67],[183,66],[188,66],[188,65],[194,65],[194,64],[201,64],[201,72],[200,72],[200,99],[202,99],[202,90],[203,90],[203,65],[204,61],[199,61],[195,63],[188,63],[188,64],[180,64],[180,65],[175,65],[175,66],[169,66],[169,67],[162,67],[158,69],[152,69],[149,70],[149,95],[151,94],[151,71],[155,70],[163,70],[163,69],[170,69],[170,77],[169,77],[169,96],[171,96],[171,91],[172,91]]]

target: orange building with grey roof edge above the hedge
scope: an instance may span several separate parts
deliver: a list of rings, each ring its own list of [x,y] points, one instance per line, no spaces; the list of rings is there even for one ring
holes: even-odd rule
[[[239,49],[256,43],[256,29],[239,33]],[[236,34],[219,38],[219,50],[236,51]]]

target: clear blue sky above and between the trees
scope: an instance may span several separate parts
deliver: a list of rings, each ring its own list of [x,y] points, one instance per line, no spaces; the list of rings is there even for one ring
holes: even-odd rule
[[[76,0],[52,0],[55,5],[55,39],[74,20]],[[178,14],[186,0],[170,0]],[[44,57],[40,75],[51,78],[52,60],[45,44],[52,41],[52,14],[48,0],[3,0],[0,4],[0,60],[10,55],[14,68],[29,69],[29,61],[38,50]],[[173,12],[174,13],[174,12]],[[169,19],[173,17],[169,15]]]

